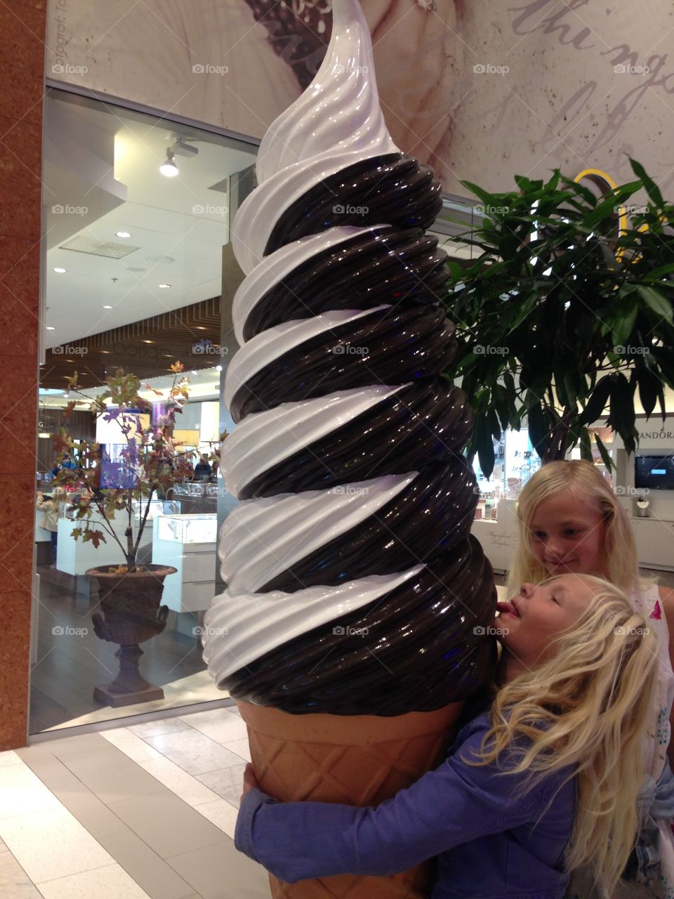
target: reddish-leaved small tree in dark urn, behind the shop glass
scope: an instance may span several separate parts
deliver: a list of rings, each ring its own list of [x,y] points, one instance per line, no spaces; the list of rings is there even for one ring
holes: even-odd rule
[[[191,454],[179,451],[173,441],[175,415],[189,399],[182,370],[180,362],[171,366],[173,384],[167,396],[146,385],[166,404],[164,415],[154,425],[143,423],[141,416],[152,411],[152,404],[140,396],[141,382],[136,375],[118,369],[107,379],[106,389],[92,398],[79,387],[75,372],[68,378],[68,392],[81,397],[97,419],[117,424],[122,449],[117,458],[106,458],[99,444],[73,438],[67,419],[76,399],[67,404],[66,425],[54,438],[60,466],[54,483],[67,488],[71,495],[68,514],[80,522],[72,536],[91,541],[94,547],[108,539],[120,547],[120,565],[100,565],[86,572],[99,585],[101,612],[93,613],[94,632],[120,644],[117,677],[106,687],[96,687],[93,695],[115,707],[164,697],[164,690],[146,681],[138,670],[143,654],[139,644],[165,628],[168,608],[161,605],[164,579],[176,569],[141,563],[138,550],[155,494],[164,496],[171,486],[191,476]],[[70,467],[62,467],[66,459],[71,460]],[[121,537],[112,525],[120,518],[124,524]]]

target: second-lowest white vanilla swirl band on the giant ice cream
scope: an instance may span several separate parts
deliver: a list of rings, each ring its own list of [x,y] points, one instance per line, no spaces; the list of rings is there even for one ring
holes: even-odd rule
[[[417,475],[384,475],[241,503],[220,530],[220,571],[229,594],[260,590],[299,559],[377,514]]]

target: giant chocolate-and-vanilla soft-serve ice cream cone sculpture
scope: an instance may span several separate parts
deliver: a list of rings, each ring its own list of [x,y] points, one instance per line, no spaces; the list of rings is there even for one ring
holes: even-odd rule
[[[235,219],[246,277],[222,456],[240,503],[205,657],[238,701],[261,787],[374,805],[441,761],[492,673],[492,570],[470,536],[472,414],[441,378],[445,254],[430,168],[393,144],[356,0],[308,90],[262,140]],[[450,810],[448,810],[448,814]],[[430,868],[326,877],[276,897],[413,899]]]

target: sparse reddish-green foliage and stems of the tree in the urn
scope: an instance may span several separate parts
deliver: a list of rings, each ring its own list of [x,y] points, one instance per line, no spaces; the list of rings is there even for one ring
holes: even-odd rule
[[[181,362],[171,366],[173,384],[164,396],[161,390],[146,384],[146,389],[166,403],[164,416],[155,425],[142,427],[139,414],[152,411],[152,404],[140,396],[141,382],[136,375],[118,369],[107,379],[107,389],[98,396],[84,394],[77,383],[77,372],[68,378],[68,391],[81,396],[90,405],[95,417],[116,422],[126,441],[120,462],[103,462],[101,448],[91,441],[75,441],[67,429],[67,417],[75,409],[76,400],[66,408],[66,425],[55,435],[57,462],[70,458],[74,468],[61,467],[54,478],[55,485],[63,485],[72,494],[69,512],[80,527],[72,531],[75,539],[91,541],[94,547],[106,542],[106,534],[120,547],[128,574],[137,570],[138,547],[155,494],[164,493],[174,484],[192,475],[191,452],[179,451],[173,441],[175,415],[182,413],[182,405],[189,400],[187,379],[182,375]],[[212,458],[217,458],[215,455]],[[135,506],[139,511],[139,525],[134,534]],[[96,521],[92,521],[96,515]],[[112,519],[125,519],[124,541],[113,529]],[[103,530],[102,530],[103,529]]]

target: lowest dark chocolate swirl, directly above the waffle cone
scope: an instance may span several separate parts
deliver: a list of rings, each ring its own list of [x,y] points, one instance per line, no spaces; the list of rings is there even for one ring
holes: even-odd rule
[[[441,708],[467,699],[492,670],[496,647],[475,622],[491,619],[495,601],[491,565],[471,536],[365,609],[288,641],[220,686],[293,714]]]

